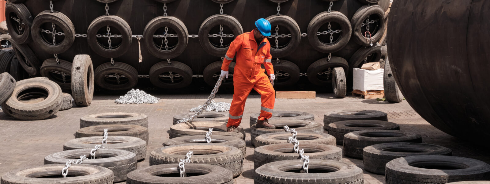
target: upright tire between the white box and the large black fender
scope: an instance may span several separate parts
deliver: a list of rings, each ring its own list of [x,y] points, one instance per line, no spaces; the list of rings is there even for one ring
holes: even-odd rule
[[[386,59],[385,63],[383,84],[385,89],[385,98],[388,102],[399,103],[403,101],[403,94],[401,94],[400,88],[398,88],[398,85],[396,84],[388,58]]]

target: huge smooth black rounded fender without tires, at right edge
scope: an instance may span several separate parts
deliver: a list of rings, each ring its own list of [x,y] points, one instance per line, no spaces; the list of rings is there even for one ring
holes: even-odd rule
[[[490,92],[489,9],[485,0],[395,0],[388,22],[407,102],[441,131],[481,143],[490,140],[490,99],[481,96]]]

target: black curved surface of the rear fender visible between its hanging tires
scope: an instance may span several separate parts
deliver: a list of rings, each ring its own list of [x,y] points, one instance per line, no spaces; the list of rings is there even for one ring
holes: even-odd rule
[[[382,1],[389,2],[389,0]],[[386,5],[387,3],[383,2],[381,4]],[[49,10],[49,1],[27,0],[25,1],[25,5],[33,17],[44,10]],[[54,1],[53,5],[53,10],[60,11],[70,18],[73,22],[75,32],[78,34],[86,34],[90,23],[99,16],[105,15],[105,3],[98,2],[97,0],[58,0]],[[334,2],[332,10],[340,11],[350,20],[363,5],[358,0],[338,0]],[[329,2],[324,0],[289,0],[281,3],[280,13],[292,17],[300,27],[301,33],[305,33],[313,17],[326,11],[328,7]],[[240,22],[244,32],[249,32],[255,27],[254,22],[257,19],[277,14],[277,3],[269,0],[234,0],[224,4],[223,10],[224,14],[231,15]],[[176,0],[167,3],[167,14],[181,20],[187,27],[189,34],[197,34],[202,22],[212,15],[219,14],[219,12],[220,5],[211,0]],[[155,17],[162,16],[164,10],[163,3],[155,0],[117,0],[109,3],[109,14],[119,16],[125,20],[131,27],[133,35],[143,35],[143,30],[147,26],[147,23]],[[269,40],[271,42],[274,41],[273,38]],[[53,58],[52,54],[45,53],[34,42],[28,45],[39,57],[40,61]],[[351,39],[344,49],[332,55],[348,60],[361,47]],[[129,50],[121,57],[114,58],[114,60],[131,65],[138,71],[139,75],[148,75],[151,66],[163,61],[163,59],[156,58],[148,53],[143,43],[141,51],[143,62],[139,63],[138,40],[133,38]],[[87,39],[82,37],[76,37],[71,48],[64,53],[58,54],[58,57],[63,60],[73,61],[73,57],[76,54],[89,54],[95,68],[103,63],[110,62],[109,58],[102,57],[91,50]],[[301,37],[300,45],[294,51],[294,54],[280,59],[292,61],[299,67],[301,73],[305,73],[313,62],[326,56],[328,54],[316,51],[309,44],[307,37]],[[272,57],[275,59],[274,56]],[[198,38],[189,38],[185,51],[172,59],[172,61],[179,61],[188,65],[194,75],[202,75],[207,65],[219,60],[221,60],[220,57],[209,55],[202,49]],[[203,79],[194,78],[191,86],[209,87],[202,81]],[[306,84],[310,82],[306,77],[301,77],[298,81],[299,83]],[[149,83],[148,79],[144,78],[140,79],[139,84],[140,86],[144,84],[143,86],[145,87],[154,87]],[[320,87],[324,88],[324,86],[316,86],[316,88]],[[327,88],[330,88],[330,86]]]

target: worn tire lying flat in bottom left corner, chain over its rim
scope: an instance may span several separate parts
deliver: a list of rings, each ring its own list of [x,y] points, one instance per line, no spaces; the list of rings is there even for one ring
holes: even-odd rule
[[[78,176],[59,177],[60,171],[65,167],[63,164],[49,164],[27,166],[8,172],[1,177],[1,183],[5,184],[113,184],[114,174],[110,169],[98,165],[73,164],[70,166],[70,173],[77,173]],[[45,178],[43,178],[45,177]]]

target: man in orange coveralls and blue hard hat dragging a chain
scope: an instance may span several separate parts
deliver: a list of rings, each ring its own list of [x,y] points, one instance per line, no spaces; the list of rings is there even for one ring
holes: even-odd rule
[[[275,91],[271,84],[275,76],[271,63],[270,43],[266,38],[270,36],[270,23],[265,19],[259,19],[255,22],[255,26],[251,32],[237,36],[231,43],[221,66],[221,76],[228,78],[228,66],[236,53],[237,64],[233,74],[234,94],[226,131],[235,131],[242,122],[245,100],[252,88],[262,96],[256,126],[266,129],[275,128],[267,121],[272,117],[275,100]],[[262,64],[269,74],[269,79],[261,68]]]

